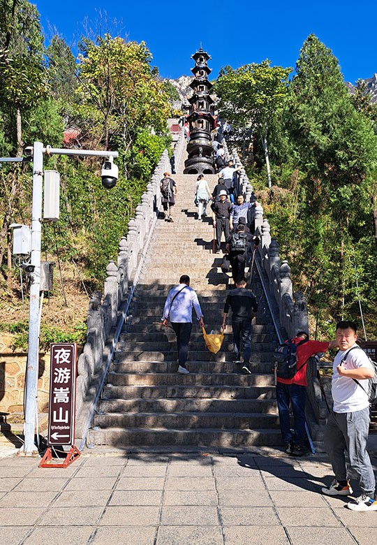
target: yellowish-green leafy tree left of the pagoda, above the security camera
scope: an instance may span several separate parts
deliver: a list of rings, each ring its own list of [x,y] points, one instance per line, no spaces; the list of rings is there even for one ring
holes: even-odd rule
[[[101,122],[98,143],[118,141],[125,151],[141,128],[165,132],[170,108],[158,78],[151,73],[151,53],[144,42],[126,42],[106,34],[84,41],[79,86],[82,115]]]

